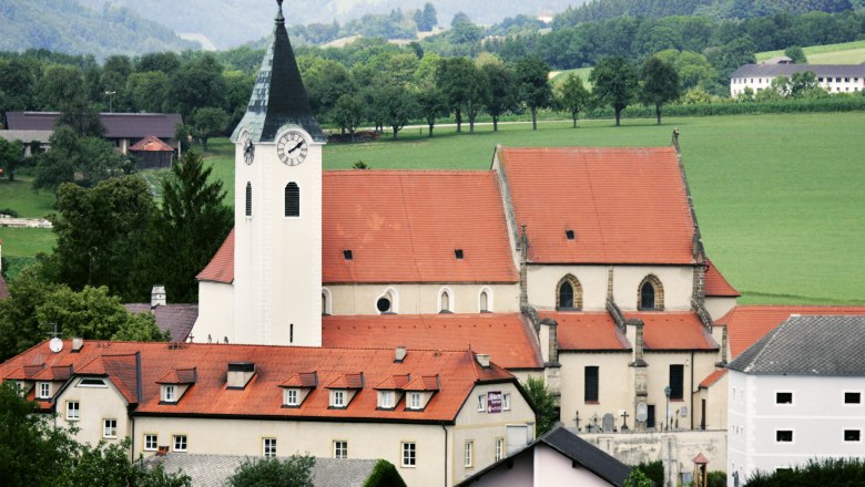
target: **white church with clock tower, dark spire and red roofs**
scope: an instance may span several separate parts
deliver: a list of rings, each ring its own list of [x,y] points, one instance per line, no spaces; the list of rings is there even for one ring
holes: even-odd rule
[[[199,274],[195,342],[472,350],[543,377],[568,426],[725,427],[725,393],[700,384],[739,293],[703,249],[675,135],[324,172],[279,13],[232,141],[235,226]]]

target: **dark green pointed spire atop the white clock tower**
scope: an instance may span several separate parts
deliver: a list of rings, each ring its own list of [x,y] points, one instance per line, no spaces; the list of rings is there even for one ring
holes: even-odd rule
[[[324,133],[309,108],[309,99],[285,30],[283,0],[276,0],[276,3],[279,10],[273,39],[255,80],[246,114],[234,129],[232,141],[236,142],[241,131],[246,128],[253,142],[274,142],[282,127],[294,125],[308,132],[315,141],[325,142]]]

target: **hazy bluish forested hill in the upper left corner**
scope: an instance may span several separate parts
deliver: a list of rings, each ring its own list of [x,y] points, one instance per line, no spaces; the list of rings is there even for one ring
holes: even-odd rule
[[[47,49],[69,54],[144,54],[199,49],[129,9],[91,10],[75,0],[1,0],[0,51]]]

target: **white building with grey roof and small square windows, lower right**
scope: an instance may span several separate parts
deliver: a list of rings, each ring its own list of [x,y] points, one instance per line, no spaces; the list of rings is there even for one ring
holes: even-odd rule
[[[865,315],[793,315],[729,364],[727,486],[865,457]]]

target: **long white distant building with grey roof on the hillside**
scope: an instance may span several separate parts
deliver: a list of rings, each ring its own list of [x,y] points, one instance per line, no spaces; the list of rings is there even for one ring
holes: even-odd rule
[[[754,93],[772,86],[777,76],[812,71],[820,87],[830,93],[852,93],[865,90],[865,63],[863,64],[794,64],[788,58],[773,58],[760,64],[745,64],[730,75],[730,96],[736,97],[751,89]]]

